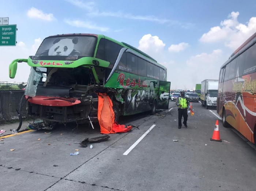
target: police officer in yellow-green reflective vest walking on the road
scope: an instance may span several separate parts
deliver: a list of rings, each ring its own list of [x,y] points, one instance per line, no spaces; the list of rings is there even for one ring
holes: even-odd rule
[[[180,97],[177,98],[176,100],[176,105],[178,106],[178,128],[181,128],[181,119],[182,116],[184,118],[183,124],[185,127],[187,126],[187,120],[188,120],[188,105],[189,105],[189,100],[187,97],[185,97],[185,92],[184,90],[181,91]]]

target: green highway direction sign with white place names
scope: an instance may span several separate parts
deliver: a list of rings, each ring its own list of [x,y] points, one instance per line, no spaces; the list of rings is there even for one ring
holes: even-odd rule
[[[16,24],[0,25],[0,46],[16,46]]]

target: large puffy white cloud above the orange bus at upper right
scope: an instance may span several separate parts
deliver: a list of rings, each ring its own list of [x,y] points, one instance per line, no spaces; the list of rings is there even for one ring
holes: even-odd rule
[[[236,50],[246,39],[256,31],[256,17],[251,17],[248,23],[239,23],[239,12],[231,12],[228,19],[222,21],[200,38],[204,43],[223,42],[226,47]]]

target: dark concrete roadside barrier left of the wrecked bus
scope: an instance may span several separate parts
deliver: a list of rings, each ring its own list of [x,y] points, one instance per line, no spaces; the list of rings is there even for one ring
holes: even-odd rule
[[[0,91],[0,122],[18,119],[19,103],[24,91]],[[22,117],[27,117],[25,98],[23,100]]]

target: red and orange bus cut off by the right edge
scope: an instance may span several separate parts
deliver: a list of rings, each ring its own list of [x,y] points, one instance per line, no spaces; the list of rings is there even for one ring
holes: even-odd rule
[[[221,66],[217,113],[250,142],[256,140],[256,33]]]

